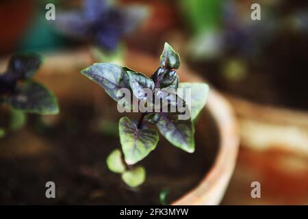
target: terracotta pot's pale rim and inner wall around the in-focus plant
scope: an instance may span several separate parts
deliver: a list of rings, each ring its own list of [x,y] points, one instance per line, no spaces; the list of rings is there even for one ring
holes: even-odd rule
[[[79,73],[81,69],[92,64],[88,49],[47,54],[44,60],[44,65],[40,68],[36,79],[52,90],[60,101],[93,103],[97,94],[107,96],[99,86]],[[125,62],[127,66],[147,75],[152,74],[152,71],[159,65],[157,58],[137,51],[128,51]],[[181,81],[203,81],[184,64],[179,70],[179,77]],[[196,188],[188,191],[172,203],[173,205],[218,205],[233,173],[239,138],[231,106],[218,92],[211,89],[205,111],[211,116],[211,120],[214,120],[216,130],[218,130],[216,135],[218,149],[216,157],[213,157],[214,164],[208,172],[204,172],[204,177]],[[214,136],[209,136],[209,138],[214,138]]]

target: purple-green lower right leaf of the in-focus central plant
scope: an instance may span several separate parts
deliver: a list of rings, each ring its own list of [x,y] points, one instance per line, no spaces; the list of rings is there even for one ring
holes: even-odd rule
[[[179,113],[155,112],[144,118],[157,125],[159,132],[174,146],[188,153],[194,152],[194,126],[192,120],[179,120]]]

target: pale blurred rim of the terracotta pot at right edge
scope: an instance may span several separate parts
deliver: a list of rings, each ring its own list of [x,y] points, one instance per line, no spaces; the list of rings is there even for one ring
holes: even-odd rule
[[[238,116],[242,146],[308,157],[308,112],[226,96]]]

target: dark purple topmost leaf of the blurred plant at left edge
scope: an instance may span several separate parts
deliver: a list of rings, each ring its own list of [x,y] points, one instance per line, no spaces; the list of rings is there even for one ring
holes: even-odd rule
[[[42,58],[36,53],[17,53],[12,56],[8,72],[21,74],[23,79],[33,77],[42,64]]]

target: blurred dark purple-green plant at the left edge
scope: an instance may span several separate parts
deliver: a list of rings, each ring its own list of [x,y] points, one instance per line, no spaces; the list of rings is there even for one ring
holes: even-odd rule
[[[11,108],[11,130],[23,126],[23,113],[44,115],[59,112],[55,96],[32,79],[41,63],[39,55],[19,53],[11,57],[8,68],[0,74],[0,105],[7,104]],[[3,136],[5,132],[1,130]]]

